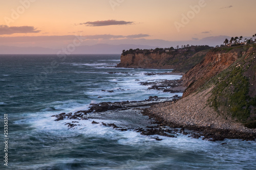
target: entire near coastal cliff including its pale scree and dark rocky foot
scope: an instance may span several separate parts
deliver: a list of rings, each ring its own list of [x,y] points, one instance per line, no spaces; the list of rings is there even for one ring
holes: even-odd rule
[[[146,114],[216,140],[256,139],[256,44],[214,48],[182,79],[187,89],[181,100]]]

